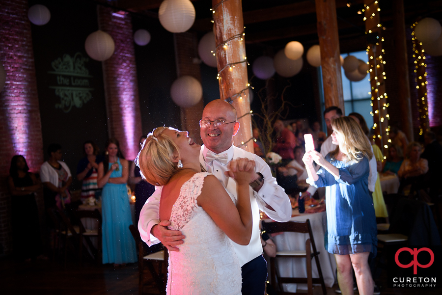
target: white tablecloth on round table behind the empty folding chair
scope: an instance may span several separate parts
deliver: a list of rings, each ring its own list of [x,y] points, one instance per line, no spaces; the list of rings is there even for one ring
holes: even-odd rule
[[[316,250],[320,252],[319,262],[321,265],[324,282],[327,287],[332,287],[336,281],[336,261],[333,254],[328,253],[324,248],[324,234],[327,230],[326,212],[301,214],[292,217],[290,221],[305,221],[306,219],[310,219]],[[277,251],[305,250],[305,241],[307,239],[308,234],[299,233],[283,233],[272,238],[276,244]],[[315,259],[316,258],[312,259],[311,261],[312,276],[313,278],[318,278],[319,274]],[[305,258],[277,258],[276,263],[281,276],[307,277]],[[297,292],[297,288],[302,290],[307,289],[306,284],[283,284],[283,287],[285,292]]]

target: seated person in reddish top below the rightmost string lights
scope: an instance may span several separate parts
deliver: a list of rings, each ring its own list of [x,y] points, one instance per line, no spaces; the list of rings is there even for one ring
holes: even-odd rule
[[[399,192],[413,195],[421,188],[425,188],[425,184],[428,182],[425,179],[425,174],[428,172],[428,161],[421,159],[422,153],[421,145],[413,141],[407,147],[407,159],[402,162],[397,176],[399,177],[401,184]],[[410,192],[407,193],[406,188],[411,185]]]

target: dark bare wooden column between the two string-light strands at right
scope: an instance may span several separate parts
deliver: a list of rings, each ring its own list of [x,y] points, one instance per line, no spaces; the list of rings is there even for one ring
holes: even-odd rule
[[[396,50],[395,75],[398,81],[396,99],[399,101],[401,113],[401,130],[410,141],[414,141],[403,0],[393,0],[393,29]]]

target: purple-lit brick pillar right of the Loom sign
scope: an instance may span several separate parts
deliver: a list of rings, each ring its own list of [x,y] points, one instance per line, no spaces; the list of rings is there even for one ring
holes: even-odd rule
[[[138,154],[141,136],[137,68],[130,14],[114,16],[111,8],[98,7],[99,27],[115,42],[115,52],[103,62],[109,135],[120,142],[128,160]]]

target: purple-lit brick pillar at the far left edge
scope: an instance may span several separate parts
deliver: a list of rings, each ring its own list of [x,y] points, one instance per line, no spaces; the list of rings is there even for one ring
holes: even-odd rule
[[[13,155],[31,171],[43,163],[43,142],[27,0],[0,0],[0,62],[6,84],[0,93],[0,254],[11,252],[10,194],[6,176]],[[42,208],[41,194],[37,204]]]

